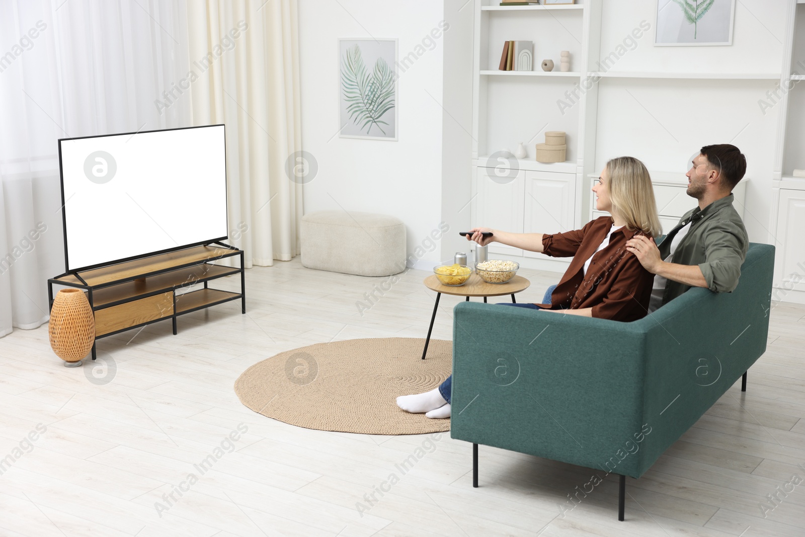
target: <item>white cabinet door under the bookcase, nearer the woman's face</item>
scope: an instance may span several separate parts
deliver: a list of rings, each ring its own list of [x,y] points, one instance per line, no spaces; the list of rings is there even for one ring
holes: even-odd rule
[[[576,207],[576,174],[526,171],[525,233],[562,233],[573,229]],[[529,258],[544,254],[523,251]]]

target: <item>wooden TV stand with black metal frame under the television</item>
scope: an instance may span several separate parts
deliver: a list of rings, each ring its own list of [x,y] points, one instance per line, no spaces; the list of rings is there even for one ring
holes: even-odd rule
[[[239,256],[240,267],[215,265],[218,259]],[[208,287],[214,279],[241,275],[241,292]],[[204,283],[204,287],[176,292]],[[246,313],[246,274],[243,250],[223,242],[192,246],[167,254],[157,254],[86,271],[72,271],[47,280],[47,297],[53,308],[53,285],[84,289],[95,315],[92,356],[96,359],[97,340],[132,328],[171,319],[231,300],[241,300]]]

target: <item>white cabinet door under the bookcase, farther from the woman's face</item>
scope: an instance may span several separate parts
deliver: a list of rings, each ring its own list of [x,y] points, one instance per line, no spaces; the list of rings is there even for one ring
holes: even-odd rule
[[[496,173],[497,172],[497,173]],[[507,176],[506,174],[510,174]],[[482,226],[522,233],[522,194],[526,172],[500,167],[477,168],[477,196],[473,200],[473,227]],[[522,255],[522,250],[489,244],[490,254]]]

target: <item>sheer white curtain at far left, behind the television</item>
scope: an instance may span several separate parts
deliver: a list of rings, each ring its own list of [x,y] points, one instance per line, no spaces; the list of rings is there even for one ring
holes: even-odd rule
[[[56,140],[187,125],[154,102],[187,63],[183,3],[0,0],[0,335],[47,321],[64,272]]]

